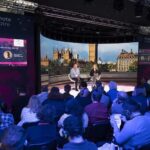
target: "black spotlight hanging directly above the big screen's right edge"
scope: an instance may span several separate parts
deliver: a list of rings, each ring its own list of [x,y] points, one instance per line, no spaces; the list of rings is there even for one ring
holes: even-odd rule
[[[143,3],[142,0],[139,0],[136,4],[135,4],[135,17],[136,18],[141,18],[143,15]]]

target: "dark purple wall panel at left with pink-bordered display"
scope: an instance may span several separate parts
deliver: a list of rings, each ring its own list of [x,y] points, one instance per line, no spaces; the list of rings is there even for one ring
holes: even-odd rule
[[[11,106],[20,88],[35,92],[34,19],[0,13],[0,98]]]

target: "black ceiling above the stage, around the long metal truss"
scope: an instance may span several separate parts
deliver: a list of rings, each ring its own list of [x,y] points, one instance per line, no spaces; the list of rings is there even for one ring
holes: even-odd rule
[[[124,23],[133,24],[133,26],[149,26],[150,18],[147,18],[148,8],[144,7],[143,15],[140,18],[135,17],[135,3],[124,0],[124,9],[117,11],[113,8],[114,0],[29,0],[39,4],[39,7],[55,7],[63,10],[69,10],[73,12],[84,13],[92,16],[102,17],[106,19],[113,19]],[[43,13],[43,12],[41,12]],[[45,15],[43,15],[45,16]],[[137,35],[136,30],[126,30],[114,27],[108,27],[104,25],[93,25],[81,22],[68,21],[64,19],[52,18],[46,16],[42,21],[43,34],[52,36],[53,38],[62,40],[78,39],[81,41],[96,41],[101,39],[105,41],[105,38],[113,38],[118,40],[120,37],[130,39],[131,36]],[[132,30],[132,31],[131,31]],[[65,39],[64,39],[65,37]],[[72,39],[71,39],[72,38]]]

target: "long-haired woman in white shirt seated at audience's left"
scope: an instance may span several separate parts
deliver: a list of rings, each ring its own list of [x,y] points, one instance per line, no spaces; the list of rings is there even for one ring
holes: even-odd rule
[[[37,118],[37,112],[40,106],[41,103],[38,96],[31,96],[28,105],[22,109],[21,121],[18,125],[22,126],[24,123],[37,122],[39,120]]]

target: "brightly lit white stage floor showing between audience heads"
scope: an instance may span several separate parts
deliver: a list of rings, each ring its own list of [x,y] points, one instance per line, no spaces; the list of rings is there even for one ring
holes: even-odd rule
[[[109,90],[108,83],[102,82],[102,84],[104,86],[104,90],[107,92]],[[118,91],[125,91],[125,92],[133,91],[134,87],[136,85],[135,83],[117,83],[117,84],[118,84],[118,86],[117,86]],[[74,88],[73,84],[70,84],[70,85],[72,88]],[[64,93],[64,89],[63,89],[64,85],[59,85],[57,87],[59,87],[61,93]],[[88,84],[88,89],[89,89],[89,91],[92,90],[92,86],[90,83]],[[75,91],[75,90],[70,91],[70,94],[72,94],[74,97],[76,97],[78,95],[78,93],[79,93],[79,91]]]

